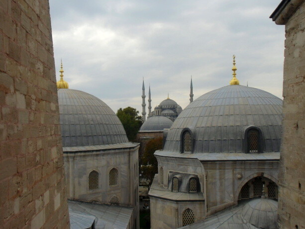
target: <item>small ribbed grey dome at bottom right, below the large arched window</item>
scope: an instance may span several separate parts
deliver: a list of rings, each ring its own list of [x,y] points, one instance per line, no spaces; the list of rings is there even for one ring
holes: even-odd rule
[[[249,201],[242,208],[242,217],[247,223],[256,228],[278,228],[278,202],[270,199],[256,199]]]

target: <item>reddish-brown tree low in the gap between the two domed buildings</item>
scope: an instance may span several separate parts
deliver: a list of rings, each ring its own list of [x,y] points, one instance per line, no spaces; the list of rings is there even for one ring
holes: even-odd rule
[[[154,156],[156,150],[162,149],[163,138],[158,137],[147,142],[145,151],[142,156],[141,174],[144,178],[150,180],[151,185],[154,176],[158,173],[158,162]]]

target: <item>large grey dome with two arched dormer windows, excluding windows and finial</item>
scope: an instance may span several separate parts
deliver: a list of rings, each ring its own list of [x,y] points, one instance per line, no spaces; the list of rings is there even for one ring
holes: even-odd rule
[[[241,85],[229,85],[204,94],[189,104],[174,121],[164,151],[180,152],[184,128],[192,131],[194,153],[245,152],[245,130],[262,132],[264,152],[279,152],[283,101]]]

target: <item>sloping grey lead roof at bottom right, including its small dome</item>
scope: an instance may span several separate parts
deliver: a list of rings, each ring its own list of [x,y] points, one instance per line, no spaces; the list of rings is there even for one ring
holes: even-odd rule
[[[254,210],[255,206],[261,209]],[[213,214],[203,221],[188,225],[183,229],[277,229],[277,209],[278,202],[274,200],[250,200]]]

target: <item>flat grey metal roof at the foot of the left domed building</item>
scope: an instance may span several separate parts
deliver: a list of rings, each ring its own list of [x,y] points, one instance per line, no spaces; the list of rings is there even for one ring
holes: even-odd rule
[[[96,229],[126,229],[133,208],[68,200],[71,229],[84,229],[95,219]]]

